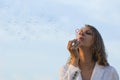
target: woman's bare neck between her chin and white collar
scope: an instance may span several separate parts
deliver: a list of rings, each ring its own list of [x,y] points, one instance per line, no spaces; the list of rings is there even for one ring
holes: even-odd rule
[[[93,70],[95,62],[92,60],[92,53],[88,48],[79,48],[80,62],[79,68],[82,71]]]

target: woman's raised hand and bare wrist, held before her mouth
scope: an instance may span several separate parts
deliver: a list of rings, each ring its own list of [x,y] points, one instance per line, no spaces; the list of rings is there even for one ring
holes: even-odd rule
[[[77,39],[74,39],[69,41],[67,45],[67,49],[69,50],[70,56],[72,58],[70,64],[76,67],[78,66],[78,62],[79,62],[79,51],[78,51],[79,44],[80,44],[80,41],[78,41]]]

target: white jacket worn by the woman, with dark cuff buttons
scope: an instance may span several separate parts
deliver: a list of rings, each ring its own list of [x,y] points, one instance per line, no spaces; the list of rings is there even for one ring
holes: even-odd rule
[[[82,80],[81,70],[73,65],[64,65],[60,69],[59,80]],[[90,80],[119,80],[119,76],[112,66],[96,63]]]

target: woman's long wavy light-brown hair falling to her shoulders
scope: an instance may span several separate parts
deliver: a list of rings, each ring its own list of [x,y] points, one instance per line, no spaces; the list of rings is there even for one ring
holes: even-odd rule
[[[104,42],[103,42],[103,39],[101,37],[101,34],[92,25],[85,24],[85,27],[90,28],[93,32],[93,41],[94,42],[91,46],[92,60],[94,62],[97,62],[99,65],[109,66],[109,63],[107,61],[107,54],[105,51],[105,46],[104,46]],[[68,59],[68,64],[70,64],[71,60],[72,60],[72,58],[70,56]]]

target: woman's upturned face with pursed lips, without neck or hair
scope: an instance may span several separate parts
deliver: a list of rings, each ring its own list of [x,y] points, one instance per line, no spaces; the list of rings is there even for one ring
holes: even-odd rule
[[[77,33],[80,47],[90,47],[93,44],[93,32],[89,27],[83,27]]]

